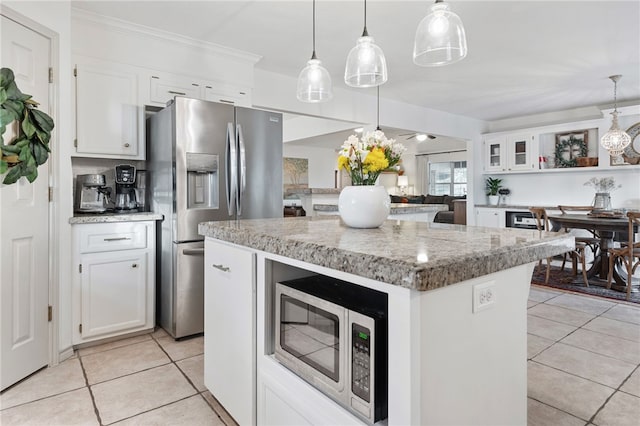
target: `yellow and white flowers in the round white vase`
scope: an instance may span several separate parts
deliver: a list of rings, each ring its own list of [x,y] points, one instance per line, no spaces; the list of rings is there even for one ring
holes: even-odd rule
[[[382,130],[367,132],[362,138],[351,135],[340,149],[338,168],[349,172],[353,185],[375,185],[380,173],[398,164],[405,150]]]

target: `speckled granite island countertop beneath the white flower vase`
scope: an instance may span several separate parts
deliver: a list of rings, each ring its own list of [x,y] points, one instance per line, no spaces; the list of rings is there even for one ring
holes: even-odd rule
[[[399,220],[354,229],[338,216],[203,222],[198,232],[421,291],[535,262],[575,244],[570,234]]]

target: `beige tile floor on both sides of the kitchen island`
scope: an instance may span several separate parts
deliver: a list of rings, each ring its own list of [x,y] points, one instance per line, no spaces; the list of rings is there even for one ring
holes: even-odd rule
[[[640,425],[640,306],[533,286],[528,424]],[[80,349],[0,395],[0,424],[235,425],[203,384],[203,338]]]

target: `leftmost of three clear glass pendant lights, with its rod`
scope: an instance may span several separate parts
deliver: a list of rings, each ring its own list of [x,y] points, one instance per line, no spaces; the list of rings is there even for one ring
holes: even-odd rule
[[[331,76],[316,57],[316,0],[313,0],[313,53],[298,76],[296,96],[302,102],[326,102],[333,97]]]

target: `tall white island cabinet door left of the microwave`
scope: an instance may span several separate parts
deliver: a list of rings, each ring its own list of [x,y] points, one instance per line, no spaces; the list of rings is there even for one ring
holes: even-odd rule
[[[255,254],[207,239],[204,280],[204,383],[239,424],[255,424]]]

